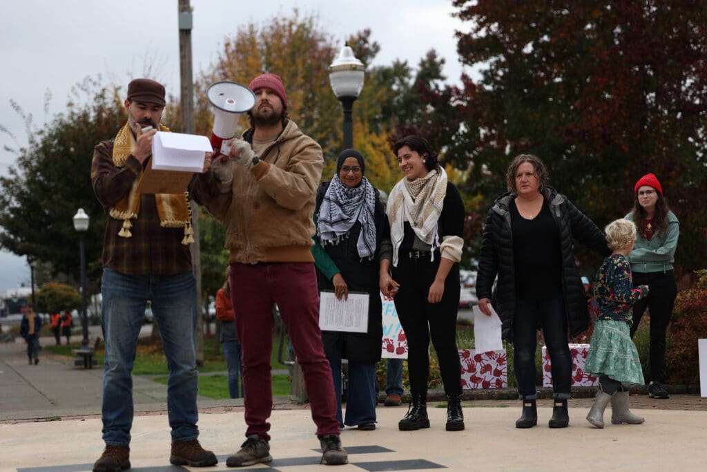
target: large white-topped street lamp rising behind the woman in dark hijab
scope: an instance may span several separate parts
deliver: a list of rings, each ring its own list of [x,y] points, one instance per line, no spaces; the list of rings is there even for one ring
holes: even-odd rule
[[[329,84],[332,86],[334,95],[344,106],[344,149],[354,147],[351,110],[354,108],[354,101],[358,98],[358,94],[361,93],[365,76],[366,67],[363,66],[363,62],[356,59],[354,50],[347,42],[339,51],[339,57],[329,66]]]

